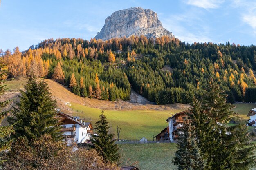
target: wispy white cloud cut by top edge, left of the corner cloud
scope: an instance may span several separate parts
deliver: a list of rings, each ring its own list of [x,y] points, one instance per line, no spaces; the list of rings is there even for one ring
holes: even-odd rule
[[[186,4],[193,5],[204,9],[218,8],[223,0],[187,0]]]

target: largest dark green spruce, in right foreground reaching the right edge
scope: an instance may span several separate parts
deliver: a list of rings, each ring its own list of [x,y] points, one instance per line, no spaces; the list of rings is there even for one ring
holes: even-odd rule
[[[225,97],[218,84],[210,82],[208,93],[199,102],[194,99],[189,110],[198,147],[207,160],[204,170],[249,170],[255,165],[255,146],[245,125],[225,126],[237,116]]]

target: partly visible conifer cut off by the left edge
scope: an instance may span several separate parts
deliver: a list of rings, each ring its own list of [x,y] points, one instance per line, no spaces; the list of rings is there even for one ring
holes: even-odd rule
[[[7,66],[4,66],[0,63],[0,97],[5,91],[4,85],[4,79],[6,77],[7,72]],[[9,115],[9,111],[5,110],[2,111],[2,108],[5,108],[10,104],[10,100],[6,100],[3,102],[0,102],[0,125],[2,120]],[[9,139],[9,136],[14,133],[13,126],[0,126],[0,154],[2,151],[10,149],[11,148],[11,140]],[[0,158],[0,164],[2,163],[2,160]]]

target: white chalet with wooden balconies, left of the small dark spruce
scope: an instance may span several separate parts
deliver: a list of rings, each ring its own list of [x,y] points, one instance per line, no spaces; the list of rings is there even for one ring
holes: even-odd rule
[[[62,126],[61,132],[63,132],[68,144],[90,142],[93,134],[93,127],[90,122],[85,122],[79,117],[72,117],[65,113],[57,113],[57,118],[61,123],[60,126]]]

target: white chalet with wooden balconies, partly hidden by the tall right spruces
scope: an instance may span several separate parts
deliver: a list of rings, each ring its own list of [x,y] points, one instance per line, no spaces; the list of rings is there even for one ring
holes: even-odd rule
[[[183,126],[187,113],[188,113],[187,110],[182,111],[179,113],[175,113],[175,115],[166,119],[166,121],[169,123],[170,141],[177,139],[179,134],[178,130]]]

